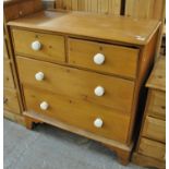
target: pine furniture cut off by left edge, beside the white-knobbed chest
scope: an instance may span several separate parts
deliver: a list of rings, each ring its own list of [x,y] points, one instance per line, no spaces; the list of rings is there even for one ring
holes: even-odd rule
[[[4,86],[3,86],[3,116],[12,121],[15,121],[20,124],[24,124],[24,117],[21,114],[23,105],[22,105],[22,96],[20,93],[19,86],[19,77],[15,67],[15,59],[13,56],[13,48],[11,44],[11,36],[9,33],[9,27],[7,26],[7,22],[9,20],[13,20],[25,14],[28,14],[31,11],[33,12],[33,5],[26,7],[29,0],[4,0],[3,2],[3,33],[4,33]],[[29,1],[31,2],[31,1]],[[33,1],[32,1],[33,2]],[[37,5],[37,2],[40,0],[35,0],[34,5]],[[31,4],[31,3],[28,3]],[[32,3],[33,4],[33,3]],[[24,9],[27,9],[23,11]],[[34,7],[34,9],[38,10],[38,7]],[[34,11],[35,12],[35,11]],[[12,85],[8,85],[10,84]]]

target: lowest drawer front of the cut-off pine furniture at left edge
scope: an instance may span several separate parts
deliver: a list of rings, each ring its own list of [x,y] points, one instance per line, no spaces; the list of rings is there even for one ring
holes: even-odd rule
[[[20,113],[20,105],[15,89],[3,89],[3,107],[8,111]]]

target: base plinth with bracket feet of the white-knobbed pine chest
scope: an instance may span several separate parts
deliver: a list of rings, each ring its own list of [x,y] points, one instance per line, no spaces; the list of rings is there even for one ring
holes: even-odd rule
[[[45,116],[43,113],[36,113],[34,111],[29,111],[29,112],[24,111],[24,116],[26,117],[25,120],[26,120],[26,128],[27,129],[32,129],[33,123],[34,122],[36,123],[37,120],[44,121],[44,122],[49,123],[49,124],[51,124],[53,126],[61,128],[63,130],[68,130],[68,131],[71,131],[73,133],[86,136],[88,138],[95,140],[97,142],[100,142],[104,145],[106,145],[107,147],[109,147],[110,149],[112,149],[118,155],[119,161],[122,165],[128,165],[129,164],[131,150],[132,150],[132,147],[133,147],[133,143],[131,143],[130,145],[126,146],[125,144],[116,142],[113,140],[109,140],[109,138],[93,134],[92,132],[81,130],[81,129],[75,128],[73,125],[69,125],[67,123],[58,121],[58,120],[56,120],[53,118],[50,118],[48,116]]]

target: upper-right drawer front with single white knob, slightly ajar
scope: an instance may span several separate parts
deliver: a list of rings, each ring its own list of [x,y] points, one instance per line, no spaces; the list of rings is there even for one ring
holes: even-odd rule
[[[138,49],[69,39],[69,62],[74,65],[134,79],[137,58]]]

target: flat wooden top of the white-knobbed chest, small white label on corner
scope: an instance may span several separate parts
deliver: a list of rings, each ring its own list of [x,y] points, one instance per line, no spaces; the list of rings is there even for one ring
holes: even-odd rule
[[[9,23],[12,26],[138,46],[149,41],[159,24],[155,20],[52,11],[38,12]]]

